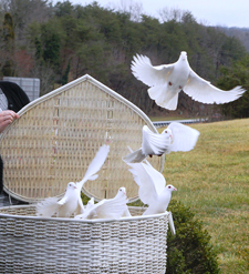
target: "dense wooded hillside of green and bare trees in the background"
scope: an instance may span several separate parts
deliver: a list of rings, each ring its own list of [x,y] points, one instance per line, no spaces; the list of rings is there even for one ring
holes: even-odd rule
[[[0,19],[0,77],[40,78],[44,94],[89,73],[149,114],[164,110],[132,75],[134,54],[160,64],[175,62],[185,50],[191,68],[214,83],[248,55],[239,40],[198,24],[188,11],[165,8],[158,20],[141,13],[136,3],[134,9],[105,9],[97,2],[2,0]],[[178,111],[206,115],[210,108],[183,93]]]

